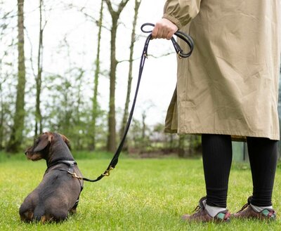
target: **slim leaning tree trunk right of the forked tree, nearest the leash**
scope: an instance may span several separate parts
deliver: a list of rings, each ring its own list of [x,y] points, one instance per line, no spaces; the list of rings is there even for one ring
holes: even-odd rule
[[[133,70],[133,48],[135,46],[136,41],[136,22],[138,19],[138,9],[140,8],[141,0],[135,0],[135,14],[133,15],[133,30],[131,32],[131,46],[130,46],[130,57],[129,57],[129,74],[128,74],[128,85],[127,85],[127,94],[126,94],[126,102],[124,107],[124,114],[122,119],[122,126],[120,129],[120,136],[122,137],[124,134],[126,121],[128,119],[129,114],[129,103],[130,103],[130,95],[131,95],[131,81],[132,70]]]

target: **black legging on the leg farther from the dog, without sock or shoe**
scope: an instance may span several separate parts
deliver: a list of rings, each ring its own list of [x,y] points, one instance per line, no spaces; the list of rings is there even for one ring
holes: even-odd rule
[[[277,164],[277,141],[268,138],[247,138],[254,206],[271,206]]]

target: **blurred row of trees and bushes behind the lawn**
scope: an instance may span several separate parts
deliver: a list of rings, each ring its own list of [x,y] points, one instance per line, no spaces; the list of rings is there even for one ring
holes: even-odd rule
[[[39,133],[56,131],[70,138],[74,150],[114,152],[134,91],[132,73],[139,62],[135,44],[141,37],[136,27],[142,0],[95,0],[91,6],[37,0],[34,8],[26,8],[26,2],[31,1],[0,0],[0,150],[22,152]],[[77,44],[74,49],[71,34],[78,28],[73,28],[64,34],[55,52],[44,49],[56,37],[48,24],[58,10],[69,12],[69,17],[84,17],[84,23],[95,31],[91,43]],[[119,32],[122,25],[126,25],[126,33]],[[126,41],[126,57],[122,58],[117,55],[120,37]],[[79,50],[82,45],[93,51],[91,60]],[[101,53],[104,47],[106,54]],[[50,59],[53,69],[44,66]],[[124,105],[117,107],[117,72],[124,64],[126,93]],[[105,93],[107,101],[100,97]],[[164,134],[162,119],[156,124],[148,121],[152,105],[138,107],[142,107],[141,116],[134,117],[125,145],[130,153],[186,157],[200,152],[200,137]]]

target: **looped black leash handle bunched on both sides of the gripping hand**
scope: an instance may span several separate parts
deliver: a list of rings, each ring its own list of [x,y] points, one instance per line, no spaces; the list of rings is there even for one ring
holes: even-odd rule
[[[141,31],[144,33],[150,33],[152,32],[152,30],[145,30],[144,27],[155,27],[155,25],[153,23],[147,22],[144,23],[143,25],[141,25]],[[173,43],[173,46],[175,48],[176,53],[178,54],[178,58],[188,58],[194,48],[194,42],[192,37],[190,37],[190,35],[185,34],[184,32],[181,32],[180,30],[178,30],[174,35],[176,35],[176,37],[178,37],[179,39],[182,39],[183,41],[185,41],[186,44],[188,44],[190,51],[188,53],[183,53],[183,49],[181,48],[181,46],[178,45],[178,43],[176,42],[176,39],[174,37],[171,37],[171,42]]]

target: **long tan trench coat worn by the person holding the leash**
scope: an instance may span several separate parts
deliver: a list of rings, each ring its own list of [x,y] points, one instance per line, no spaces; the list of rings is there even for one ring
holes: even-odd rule
[[[163,18],[195,41],[178,59],[166,132],[279,140],[280,13],[280,0],[166,1]]]

